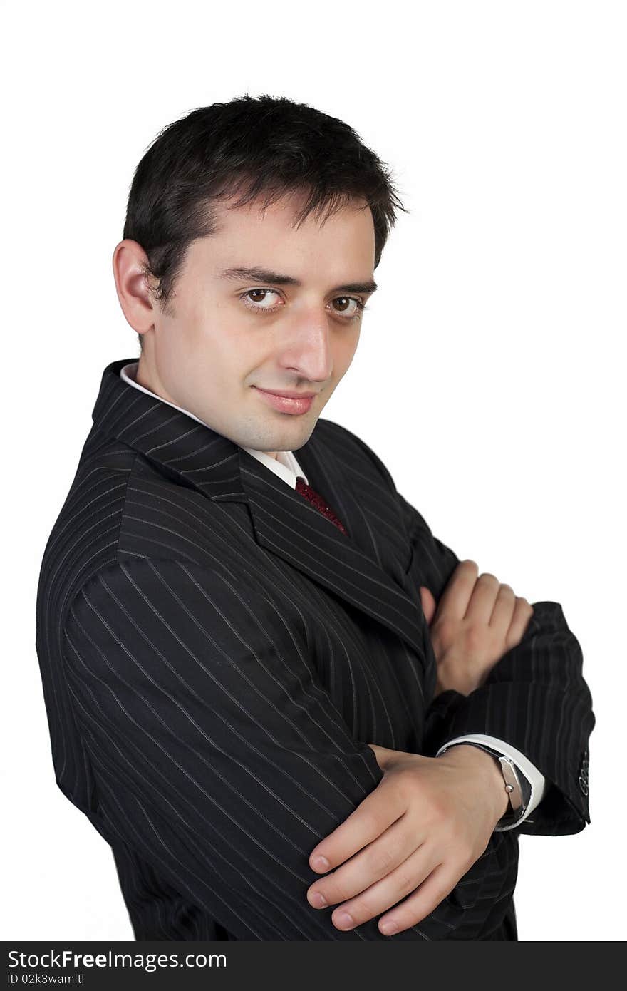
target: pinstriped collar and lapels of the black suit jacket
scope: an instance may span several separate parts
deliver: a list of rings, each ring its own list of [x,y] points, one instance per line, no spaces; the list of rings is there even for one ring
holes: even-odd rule
[[[92,411],[95,426],[212,501],[246,502],[262,547],[384,623],[424,661],[426,624],[418,590],[408,587],[400,567],[392,577],[370,557],[371,533],[359,493],[325,440],[324,421],[317,422],[296,457],[348,536],[234,441],[124,382],[120,369],[130,361],[105,368]]]

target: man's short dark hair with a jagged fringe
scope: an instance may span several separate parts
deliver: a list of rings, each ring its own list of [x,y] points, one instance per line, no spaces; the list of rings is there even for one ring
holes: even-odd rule
[[[233,207],[263,195],[265,208],[288,193],[308,192],[294,226],[312,212],[320,217],[326,210],[326,219],[350,199],[365,199],[374,268],[395,210],[407,212],[384,163],[337,117],[266,94],[198,107],[158,133],[135,170],[127,204],[123,237],[146,252],[144,272],[156,280],[164,312],[190,244],[218,229],[212,201],[240,190]]]

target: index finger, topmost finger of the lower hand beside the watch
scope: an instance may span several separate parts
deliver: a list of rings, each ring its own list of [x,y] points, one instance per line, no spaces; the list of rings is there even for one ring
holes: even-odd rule
[[[406,808],[407,799],[403,798],[401,790],[394,785],[394,780],[382,778],[357,809],[314,846],[309,854],[309,866],[312,870],[328,871],[344,863],[366,846],[366,843],[377,839],[403,815]],[[325,857],[328,866],[317,866],[316,857]]]

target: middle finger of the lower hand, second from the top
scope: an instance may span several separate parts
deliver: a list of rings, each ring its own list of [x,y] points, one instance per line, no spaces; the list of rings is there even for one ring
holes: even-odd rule
[[[339,905],[366,891],[370,885],[386,877],[422,845],[424,837],[417,835],[416,824],[401,816],[373,842],[326,877],[313,882],[307,890],[307,900],[316,909]],[[324,903],[316,896],[322,895]],[[380,909],[379,911],[382,911]]]

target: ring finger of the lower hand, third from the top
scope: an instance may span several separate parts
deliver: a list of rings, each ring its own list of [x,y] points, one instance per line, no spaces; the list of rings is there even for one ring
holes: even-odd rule
[[[343,902],[331,916],[336,929],[349,930],[375,919],[391,906],[415,891],[438,865],[438,855],[429,843],[423,843],[402,863],[366,888],[356,898]],[[345,919],[346,914],[351,919]]]

